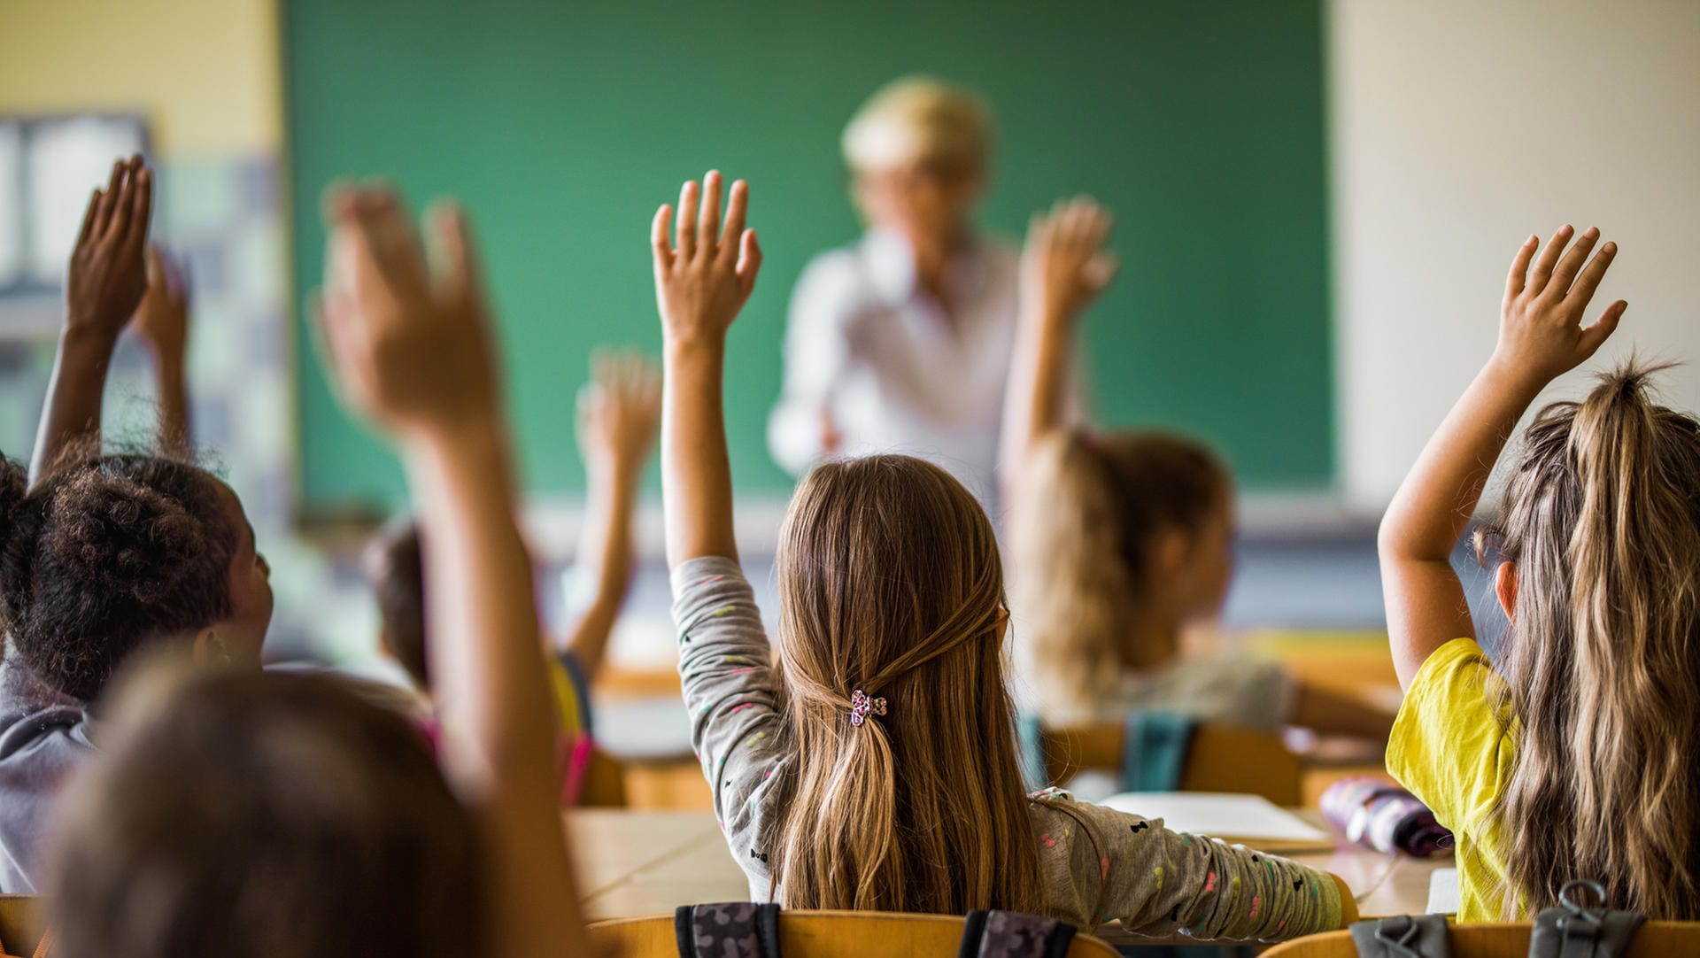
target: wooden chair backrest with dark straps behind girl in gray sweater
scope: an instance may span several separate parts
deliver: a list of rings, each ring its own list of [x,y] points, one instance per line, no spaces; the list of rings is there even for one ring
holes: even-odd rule
[[[962,944],[962,916],[913,916],[896,912],[809,912],[779,916],[779,950],[797,958],[955,958]],[[675,958],[678,938],[673,916],[600,921],[590,926],[590,943],[602,955],[622,958]],[[1068,958],[1119,958],[1117,951],[1090,934],[1076,934]]]

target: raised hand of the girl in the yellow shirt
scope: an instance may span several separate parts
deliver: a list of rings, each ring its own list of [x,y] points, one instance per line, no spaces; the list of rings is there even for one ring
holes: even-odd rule
[[[1629,309],[1629,304],[1618,299],[1606,306],[1593,324],[1581,324],[1588,302],[1617,256],[1617,243],[1600,246],[1590,260],[1588,253],[1600,241],[1600,231],[1590,226],[1566,251],[1571,233],[1569,226],[1559,228],[1538,260],[1537,238],[1523,241],[1516,258],[1511,260],[1504,302],[1499,307],[1499,345],[1494,347],[1494,363],[1540,386],[1595,355]]]

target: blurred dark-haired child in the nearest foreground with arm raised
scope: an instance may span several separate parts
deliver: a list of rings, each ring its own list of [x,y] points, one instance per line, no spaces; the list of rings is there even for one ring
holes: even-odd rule
[[[323,676],[202,671],[126,693],[65,800],[58,958],[590,953],[464,219],[437,217],[430,270],[391,194],[330,207],[333,380],[394,442],[440,544],[425,579],[442,771],[406,722]]]

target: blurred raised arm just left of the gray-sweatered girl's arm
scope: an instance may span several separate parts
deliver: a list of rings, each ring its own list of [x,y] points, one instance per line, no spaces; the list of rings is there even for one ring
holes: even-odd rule
[[[595,571],[595,595],[566,635],[586,679],[595,678],[632,579],[638,481],[661,418],[661,372],[641,353],[598,353],[578,394],[578,447],[588,477],[576,564]]]

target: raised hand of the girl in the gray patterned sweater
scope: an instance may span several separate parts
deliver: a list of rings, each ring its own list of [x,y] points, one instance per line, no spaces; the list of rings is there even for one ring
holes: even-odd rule
[[[697,202],[702,199],[699,221]],[[672,343],[721,341],[755,289],[762,246],[755,229],[745,229],[750,187],[733,183],[721,224],[721,175],[709,172],[702,189],[687,182],[678,194],[678,236],[670,240],[673,207],[654,212],[649,243],[654,250],[654,299],[661,328]]]

